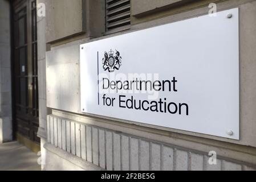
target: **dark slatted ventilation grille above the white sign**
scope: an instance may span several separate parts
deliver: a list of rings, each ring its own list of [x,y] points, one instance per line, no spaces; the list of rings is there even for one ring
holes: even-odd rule
[[[106,27],[107,31],[124,27],[131,23],[130,0],[106,1]]]

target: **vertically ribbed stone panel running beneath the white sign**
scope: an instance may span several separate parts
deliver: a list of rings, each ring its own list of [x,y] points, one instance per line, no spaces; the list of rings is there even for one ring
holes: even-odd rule
[[[210,156],[97,126],[47,117],[47,141],[107,170],[255,170],[242,162]],[[212,160],[211,160],[212,161]]]

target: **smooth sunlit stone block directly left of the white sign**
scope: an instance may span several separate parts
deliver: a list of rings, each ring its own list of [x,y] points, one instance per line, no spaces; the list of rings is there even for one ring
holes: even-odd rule
[[[78,42],[46,53],[47,107],[80,111],[79,55]]]

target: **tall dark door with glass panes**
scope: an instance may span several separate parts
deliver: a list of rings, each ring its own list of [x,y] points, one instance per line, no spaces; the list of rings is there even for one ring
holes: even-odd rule
[[[22,141],[39,144],[36,0],[13,2],[13,28],[14,129]]]

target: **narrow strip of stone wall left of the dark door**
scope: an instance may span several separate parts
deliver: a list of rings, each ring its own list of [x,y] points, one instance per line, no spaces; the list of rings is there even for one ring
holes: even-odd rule
[[[0,143],[13,139],[9,1],[0,1]]]

